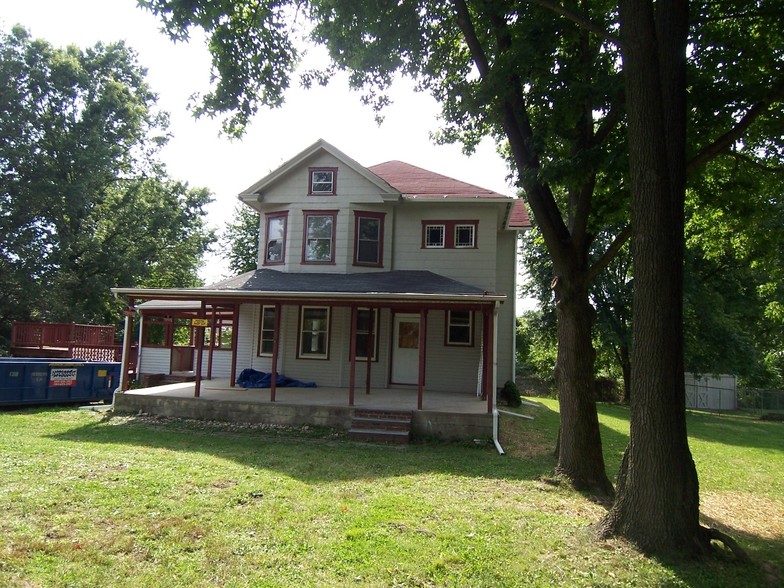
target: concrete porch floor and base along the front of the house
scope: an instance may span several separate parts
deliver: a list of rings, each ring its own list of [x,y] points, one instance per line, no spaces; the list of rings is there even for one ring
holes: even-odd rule
[[[358,392],[354,406],[349,406],[347,388],[279,387],[272,402],[269,388],[232,387],[229,379],[214,379],[202,380],[199,396],[194,393],[194,382],[117,392],[114,410],[118,414],[141,411],[199,420],[345,430],[350,428],[355,410],[411,411],[414,438],[488,439],[493,432],[487,400],[471,393],[424,390],[421,410],[417,410],[416,386],[373,389],[370,394]]]

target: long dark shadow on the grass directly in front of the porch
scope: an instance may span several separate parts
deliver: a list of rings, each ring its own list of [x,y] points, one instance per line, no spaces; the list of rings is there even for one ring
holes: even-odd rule
[[[251,468],[270,469],[306,483],[406,476],[423,472],[509,481],[546,474],[548,460],[500,456],[492,443],[415,443],[400,447],[349,441],[315,427],[237,426],[126,417],[111,413],[49,435],[58,441],[199,452]]]

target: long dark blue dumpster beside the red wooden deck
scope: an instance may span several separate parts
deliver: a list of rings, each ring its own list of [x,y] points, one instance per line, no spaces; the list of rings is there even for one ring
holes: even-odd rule
[[[120,362],[0,358],[0,406],[111,401]]]

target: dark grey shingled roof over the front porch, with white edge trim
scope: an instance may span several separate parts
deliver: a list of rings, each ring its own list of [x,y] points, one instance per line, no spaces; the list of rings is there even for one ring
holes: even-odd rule
[[[488,292],[427,270],[338,274],[259,269],[201,288],[112,288],[112,292],[145,300],[180,301],[318,298],[487,303],[506,300],[504,294]]]

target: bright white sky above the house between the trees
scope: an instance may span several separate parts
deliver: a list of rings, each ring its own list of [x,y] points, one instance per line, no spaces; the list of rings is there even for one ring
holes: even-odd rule
[[[0,27],[23,25],[34,38],[56,47],[91,47],[124,40],[147,68],[147,82],[159,96],[158,106],[171,115],[173,135],[161,158],[169,175],[213,194],[207,222],[219,231],[232,218],[237,194],[297,153],[324,139],[364,166],[401,160],[440,174],[514,195],[507,168],[487,139],[467,157],[458,145],[434,145],[438,105],[401,80],[394,103],[379,126],[360,95],[345,79],[326,88],[305,90],[296,79],[281,108],[265,109],[253,119],[245,137],[220,135],[217,120],[194,119],[188,98],[209,87],[210,55],[204,37],[173,43],[160,22],[138,8],[136,0],[0,0]],[[312,55],[317,55],[314,50]],[[211,283],[228,277],[219,255],[208,257],[201,277]]]

